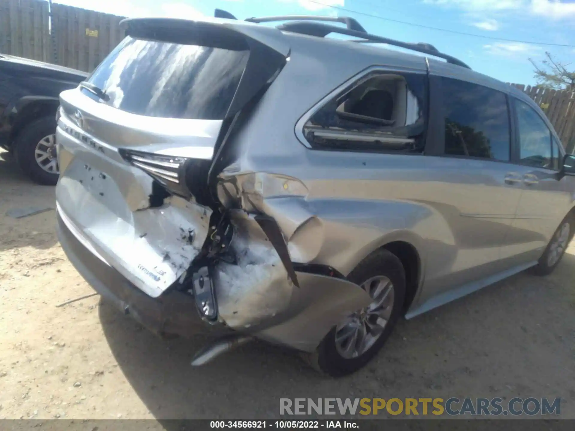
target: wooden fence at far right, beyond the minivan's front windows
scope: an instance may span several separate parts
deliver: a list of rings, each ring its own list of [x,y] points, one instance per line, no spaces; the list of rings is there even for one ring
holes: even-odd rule
[[[575,149],[575,91],[511,85],[519,88],[541,107],[561,138],[565,150],[572,153]]]

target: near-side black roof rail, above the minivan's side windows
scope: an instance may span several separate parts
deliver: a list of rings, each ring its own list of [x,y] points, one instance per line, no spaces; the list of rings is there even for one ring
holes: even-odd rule
[[[348,36],[355,36],[360,38],[357,40],[353,40],[355,43],[382,43],[382,44],[394,45],[396,47],[410,49],[411,51],[417,51],[427,55],[439,57],[446,60],[447,63],[457,64],[457,66],[470,69],[470,67],[467,66],[467,64],[463,63],[463,61],[458,60],[450,55],[444,54],[443,52],[439,52],[438,49],[431,44],[426,43],[414,44],[414,43],[401,42],[394,39],[388,39],[387,37],[376,36],[375,34],[365,33],[357,30],[352,30],[349,28],[345,29],[337,27],[335,25],[322,24],[321,22],[305,22],[305,21],[286,22],[285,24],[278,25],[278,29],[287,32],[309,34],[310,36],[318,36],[318,37],[325,37],[329,33],[347,34]]]

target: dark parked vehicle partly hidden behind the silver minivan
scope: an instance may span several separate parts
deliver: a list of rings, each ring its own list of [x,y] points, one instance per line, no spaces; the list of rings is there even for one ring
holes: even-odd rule
[[[0,55],[0,147],[13,152],[35,182],[56,184],[58,95],[88,74],[55,64]]]

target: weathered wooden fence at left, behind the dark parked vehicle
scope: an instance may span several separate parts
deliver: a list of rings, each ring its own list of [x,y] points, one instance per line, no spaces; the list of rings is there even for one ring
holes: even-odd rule
[[[46,0],[0,0],[0,53],[91,72],[122,39],[118,17]],[[53,40],[53,45],[52,45]]]

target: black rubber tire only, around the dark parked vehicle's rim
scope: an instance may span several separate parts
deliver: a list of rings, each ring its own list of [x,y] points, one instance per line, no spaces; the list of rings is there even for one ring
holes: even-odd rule
[[[39,164],[47,163],[53,159],[44,159],[39,162],[36,158],[37,147],[44,139],[46,140],[45,145],[41,145],[40,149],[47,153],[51,152],[51,157],[55,157],[55,148],[48,151],[48,147],[51,145],[49,137],[52,139],[52,145],[55,145],[53,144],[55,133],[56,119],[53,116],[46,116],[24,126],[14,141],[14,155],[16,155],[18,165],[30,179],[38,184],[53,186],[58,180],[57,164],[56,173],[44,170]]]

